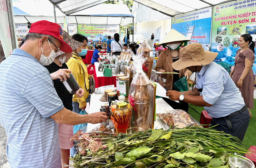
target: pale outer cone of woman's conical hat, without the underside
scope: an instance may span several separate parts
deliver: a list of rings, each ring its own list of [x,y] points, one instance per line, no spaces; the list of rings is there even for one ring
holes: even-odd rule
[[[176,30],[172,29],[162,40],[159,45],[164,44],[164,43],[170,43],[170,42],[178,42],[178,41],[190,41],[188,38],[177,32]]]

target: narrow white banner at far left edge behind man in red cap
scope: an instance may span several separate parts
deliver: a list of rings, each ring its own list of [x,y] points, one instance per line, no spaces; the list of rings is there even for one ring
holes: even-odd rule
[[[12,41],[5,0],[0,2],[0,21],[0,40],[4,49],[4,55],[7,58],[12,53]]]

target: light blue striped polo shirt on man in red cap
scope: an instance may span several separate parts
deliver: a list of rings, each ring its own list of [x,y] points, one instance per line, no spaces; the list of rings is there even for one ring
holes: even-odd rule
[[[61,168],[58,124],[64,108],[49,71],[29,53],[14,49],[0,64],[0,123],[12,168]]]

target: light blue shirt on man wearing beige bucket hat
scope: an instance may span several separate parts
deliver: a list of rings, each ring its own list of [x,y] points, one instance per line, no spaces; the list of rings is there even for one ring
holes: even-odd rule
[[[226,117],[244,107],[241,92],[222,66],[211,62],[204,65],[196,76],[196,88],[202,89],[200,95],[212,105],[204,107],[210,117]]]

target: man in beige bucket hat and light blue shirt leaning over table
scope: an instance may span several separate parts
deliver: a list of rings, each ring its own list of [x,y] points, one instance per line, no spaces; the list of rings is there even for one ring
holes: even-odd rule
[[[212,62],[218,53],[204,51],[200,43],[193,43],[180,49],[181,59],[172,63],[180,70],[188,67],[196,72],[196,87],[185,92],[167,91],[171,100],[180,100],[196,106],[203,106],[212,117],[211,125],[241,141],[249,125],[249,112],[241,92],[228,72]]]

